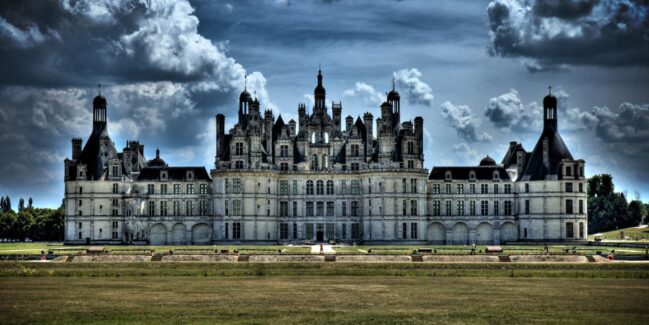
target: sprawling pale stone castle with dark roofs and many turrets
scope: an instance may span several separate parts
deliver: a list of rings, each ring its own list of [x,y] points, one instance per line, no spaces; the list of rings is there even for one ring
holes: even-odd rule
[[[66,243],[211,244],[339,241],[478,244],[586,240],[586,178],[543,100],[531,152],[511,142],[503,160],[424,168],[424,121],[401,121],[399,93],[380,117],[327,106],[318,71],[314,105],[298,121],[261,112],[247,90],[225,132],[216,116],[214,169],[171,167],[156,150],[108,135],[107,101],[93,100],[85,146],[65,160]],[[330,115],[331,112],[331,115]]]

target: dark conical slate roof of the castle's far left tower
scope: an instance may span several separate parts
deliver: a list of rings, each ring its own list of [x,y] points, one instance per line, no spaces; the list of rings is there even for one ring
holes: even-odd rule
[[[108,145],[101,146],[101,140],[108,140]],[[85,164],[88,179],[99,180],[105,173],[105,168],[108,160],[117,157],[117,149],[110,141],[106,125],[99,129],[94,129],[86,145],[81,151],[81,155],[77,161],[78,164]]]

